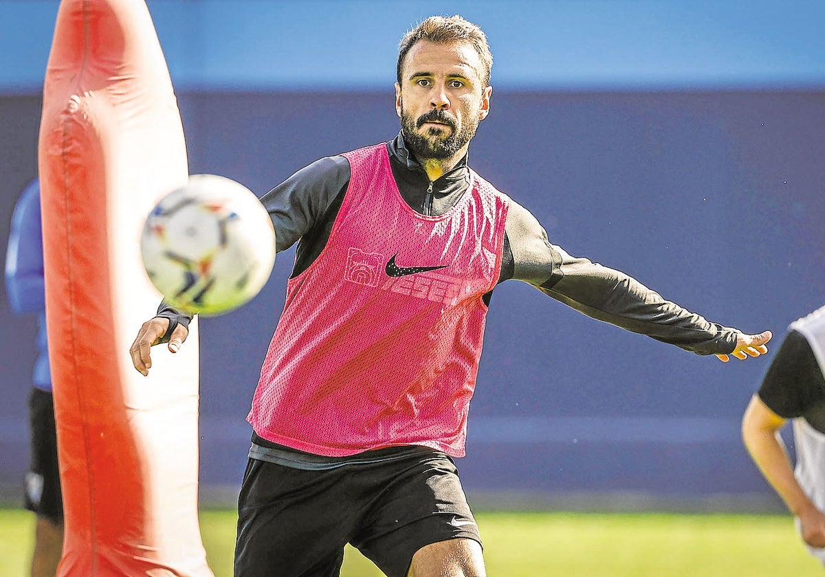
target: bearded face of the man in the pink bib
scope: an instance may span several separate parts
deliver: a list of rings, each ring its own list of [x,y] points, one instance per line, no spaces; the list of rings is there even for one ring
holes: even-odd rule
[[[395,110],[404,140],[420,162],[462,151],[488,114],[492,87],[483,86],[483,63],[467,42],[419,40],[395,84]],[[462,152],[462,155],[464,152]]]

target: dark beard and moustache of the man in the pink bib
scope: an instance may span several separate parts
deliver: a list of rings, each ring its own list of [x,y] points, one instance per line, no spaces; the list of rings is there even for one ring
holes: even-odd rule
[[[447,124],[450,129],[450,136],[442,138],[441,134],[447,129],[429,129],[428,135],[423,136],[417,129],[426,122],[441,122]],[[401,128],[404,134],[404,143],[407,144],[418,162],[426,160],[445,160],[459,152],[464,145],[469,143],[470,138],[475,135],[475,130],[479,128],[479,123],[466,124],[460,130],[455,129],[455,119],[444,110],[430,110],[426,115],[419,116],[413,120],[402,108]]]

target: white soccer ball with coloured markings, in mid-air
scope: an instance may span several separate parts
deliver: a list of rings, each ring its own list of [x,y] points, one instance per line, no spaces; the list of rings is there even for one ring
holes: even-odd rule
[[[275,262],[275,229],[261,201],[240,183],[192,175],[146,218],[140,254],[164,300],[210,317],[247,303]]]

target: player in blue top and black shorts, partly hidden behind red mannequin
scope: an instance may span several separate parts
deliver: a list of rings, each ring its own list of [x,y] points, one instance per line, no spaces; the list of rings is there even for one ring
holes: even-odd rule
[[[6,290],[15,314],[36,312],[38,356],[29,395],[31,463],[26,473],[26,509],[36,515],[32,577],[54,577],[63,553],[63,499],[57,458],[57,433],[46,341],[43,237],[40,182],[23,190],[12,216],[6,254]]]

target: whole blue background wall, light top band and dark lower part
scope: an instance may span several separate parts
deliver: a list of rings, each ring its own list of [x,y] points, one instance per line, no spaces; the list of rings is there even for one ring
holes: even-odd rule
[[[414,1],[148,6],[191,172],[258,194],[318,157],[392,138],[398,39],[436,12]],[[775,349],[790,321],[822,304],[825,285],[825,4],[793,6],[441,2],[437,12],[485,28],[496,59],[471,164],[572,254],[711,320],[771,329]],[[35,176],[56,9],[0,2],[2,239]],[[243,419],[291,260],[279,256],[252,303],[202,321],[204,495],[239,484]],[[0,301],[0,486],[13,493],[26,467],[34,319]],[[766,365],[686,354],[503,284],[464,485],[488,504],[571,506],[582,494],[625,507],[719,495],[726,506],[775,503],[738,433]]]

